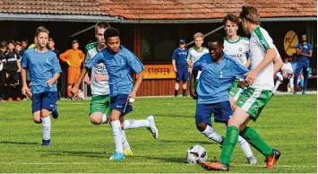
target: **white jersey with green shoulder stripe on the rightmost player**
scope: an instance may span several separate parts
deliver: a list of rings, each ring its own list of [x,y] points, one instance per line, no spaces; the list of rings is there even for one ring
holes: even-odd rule
[[[257,65],[259,65],[262,62],[268,49],[275,48],[277,51],[277,48],[273,44],[271,36],[266,30],[262,29],[262,27],[257,27],[253,30],[249,48],[251,52],[251,69],[254,69]],[[273,76],[274,65],[271,61],[271,63],[267,65],[265,68],[263,68],[262,71],[258,74],[251,87],[261,90],[272,91],[274,87]]]

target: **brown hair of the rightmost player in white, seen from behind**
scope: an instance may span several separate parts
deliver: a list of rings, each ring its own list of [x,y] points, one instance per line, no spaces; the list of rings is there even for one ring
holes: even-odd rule
[[[242,11],[239,14],[239,17],[243,20],[245,19],[248,22],[260,25],[261,24],[261,15],[257,8],[250,5],[242,6]]]

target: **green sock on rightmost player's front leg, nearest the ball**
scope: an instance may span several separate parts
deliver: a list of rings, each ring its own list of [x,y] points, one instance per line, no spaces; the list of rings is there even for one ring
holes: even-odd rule
[[[227,135],[222,145],[222,152],[219,157],[219,161],[224,165],[229,164],[234,147],[237,144],[238,134],[239,129],[237,126],[228,126]]]

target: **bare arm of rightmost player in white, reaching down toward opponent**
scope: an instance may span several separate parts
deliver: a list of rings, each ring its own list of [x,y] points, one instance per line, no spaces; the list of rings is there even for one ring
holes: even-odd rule
[[[246,74],[246,82],[252,84],[256,79],[258,73],[262,71],[267,65],[273,61],[273,59],[277,56],[276,48],[269,48],[266,51],[265,57],[262,59],[262,62],[257,65],[251,72]]]

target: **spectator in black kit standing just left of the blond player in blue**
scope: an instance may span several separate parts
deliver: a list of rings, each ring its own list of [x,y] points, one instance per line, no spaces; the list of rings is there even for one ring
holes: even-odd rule
[[[7,51],[5,53],[6,59],[6,79],[7,79],[7,94],[8,101],[11,100],[21,100],[18,93],[18,85],[21,83],[19,80],[19,74],[21,73],[21,64],[20,64],[20,56],[17,52],[14,51],[14,41],[9,40]]]

